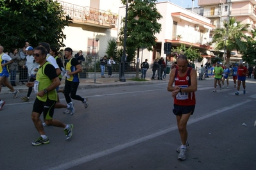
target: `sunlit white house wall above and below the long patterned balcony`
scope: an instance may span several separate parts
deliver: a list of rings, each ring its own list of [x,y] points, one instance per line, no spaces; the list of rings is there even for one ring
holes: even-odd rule
[[[76,5],[86,7],[90,6],[90,1],[84,0],[62,0],[65,3],[75,3]],[[122,6],[121,1],[119,0],[108,0],[108,1],[99,1],[99,10],[105,10],[107,12],[117,13],[119,11],[119,6]],[[105,29],[101,27],[88,26],[85,24],[71,24],[64,28],[64,34],[66,39],[64,40],[65,47],[71,47],[74,51],[74,54],[79,50],[83,51],[83,54],[86,56],[89,50],[89,39],[98,39],[98,56],[103,57],[106,55],[105,50],[107,49],[107,42],[110,38],[117,38],[117,27],[112,29]],[[95,44],[94,44],[95,45]]]

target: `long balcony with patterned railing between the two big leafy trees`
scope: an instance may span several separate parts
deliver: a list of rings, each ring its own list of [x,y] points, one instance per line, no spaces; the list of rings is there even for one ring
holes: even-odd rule
[[[103,27],[106,29],[116,26],[116,13],[90,8],[89,6],[78,6],[76,4],[58,1],[62,5],[65,15],[69,15],[75,24]]]

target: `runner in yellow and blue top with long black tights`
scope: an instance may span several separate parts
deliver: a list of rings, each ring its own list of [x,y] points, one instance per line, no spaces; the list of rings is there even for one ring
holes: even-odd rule
[[[73,50],[69,47],[65,48],[64,54],[65,58],[68,59],[66,70],[66,80],[65,80],[65,88],[64,88],[64,95],[65,100],[67,104],[72,104],[72,99],[74,100],[80,100],[83,102],[83,105],[85,106],[85,109],[88,107],[88,98],[82,98],[79,95],[76,95],[76,91],[79,86],[79,73],[82,71],[81,65],[78,63],[78,60],[72,56]],[[70,111],[67,109],[67,111],[64,112],[64,114],[68,114]]]

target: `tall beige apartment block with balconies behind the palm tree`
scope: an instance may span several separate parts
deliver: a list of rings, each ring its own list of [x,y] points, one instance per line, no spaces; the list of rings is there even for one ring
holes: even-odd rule
[[[255,0],[198,0],[198,6],[203,10],[203,16],[210,19],[214,29],[224,27],[223,23],[228,21],[230,17],[241,24],[250,24],[248,31],[245,33],[251,36],[251,30],[256,28],[256,1]],[[210,38],[213,36],[213,31],[210,31]],[[210,39],[211,40],[211,39]],[[241,57],[236,52],[232,53],[230,63],[241,61]]]

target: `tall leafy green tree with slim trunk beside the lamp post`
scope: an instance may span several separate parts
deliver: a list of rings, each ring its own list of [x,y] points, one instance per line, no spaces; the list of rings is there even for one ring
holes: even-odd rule
[[[127,36],[126,46],[137,48],[137,58],[139,58],[139,49],[147,48],[153,50],[156,45],[156,33],[160,33],[161,24],[157,22],[162,15],[157,11],[157,0],[128,0],[128,17],[127,17]],[[121,0],[126,4],[126,0]],[[125,18],[122,20],[125,22]],[[119,41],[124,41],[124,26],[119,32]],[[136,77],[139,77],[139,63],[137,63]]]

